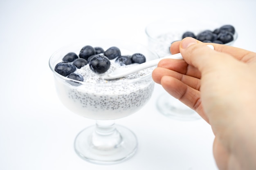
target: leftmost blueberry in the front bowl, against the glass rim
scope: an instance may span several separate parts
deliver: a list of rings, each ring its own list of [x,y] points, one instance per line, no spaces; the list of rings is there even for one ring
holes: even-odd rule
[[[56,64],[54,70],[60,75],[67,76],[76,71],[76,66],[70,62],[59,62]]]

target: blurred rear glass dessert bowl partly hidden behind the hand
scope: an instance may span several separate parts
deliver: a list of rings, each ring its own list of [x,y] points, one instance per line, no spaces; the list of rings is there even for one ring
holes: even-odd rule
[[[232,35],[229,33],[227,33],[227,35],[218,35],[220,33],[220,27],[224,25],[228,24],[220,24],[212,22],[211,20],[195,21],[193,18],[168,18],[168,20],[157,20],[148,24],[145,32],[148,38],[149,48],[154,50],[161,58],[171,55],[171,44],[175,41],[182,40],[182,35],[186,32],[192,32],[194,33],[195,38],[199,38],[200,33],[209,31],[215,35],[214,38],[213,35],[209,35],[211,33],[207,34],[210,37],[212,36],[212,39],[222,40],[223,37],[221,36],[225,36],[225,38],[230,38],[230,41],[226,41],[226,43],[223,44],[233,45],[238,37],[236,31],[232,33]],[[161,94],[157,99],[156,105],[160,113],[173,119],[195,120],[201,118],[197,113],[195,113],[194,110],[175,99],[168,93]]]

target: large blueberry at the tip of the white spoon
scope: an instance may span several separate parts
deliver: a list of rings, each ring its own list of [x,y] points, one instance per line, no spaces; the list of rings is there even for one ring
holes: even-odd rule
[[[110,68],[110,61],[105,55],[95,55],[89,62],[90,69],[95,73],[105,73]]]

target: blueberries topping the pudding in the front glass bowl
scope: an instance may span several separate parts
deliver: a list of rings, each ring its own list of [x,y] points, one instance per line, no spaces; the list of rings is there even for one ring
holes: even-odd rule
[[[141,53],[135,53],[131,56],[121,55],[120,49],[116,46],[112,46],[104,51],[101,47],[87,45],[81,49],[79,56],[73,52],[67,53],[63,57],[62,62],[56,64],[54,70],[70,79],[83,81],[82,75],[74,73],[76,68],[80,69],[89,64],[92,71],[102,74],[110,68],[110,60],[115,60],[116,63],[124,66],[132,63],[144,63],[146,62],[146,57]]]

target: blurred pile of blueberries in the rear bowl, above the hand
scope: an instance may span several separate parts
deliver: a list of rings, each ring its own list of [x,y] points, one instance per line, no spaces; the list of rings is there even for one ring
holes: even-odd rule
[[[235,28],[232,25],[223,25],[214,31],[205,30],[198,35],[195,35],[191,31],[186,31],[182,35],[182,39],[185,37],[193,37],[202,42],[212,42],[217,44],[227,44],[234,40]]]

